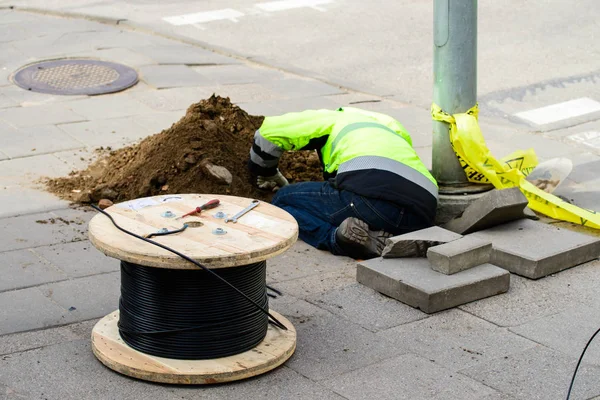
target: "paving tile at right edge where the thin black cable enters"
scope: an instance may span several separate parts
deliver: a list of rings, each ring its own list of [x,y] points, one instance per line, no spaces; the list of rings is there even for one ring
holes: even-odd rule
[[[598,327],[600,327],[600,317],[597,309],[580,305],[558,314],[515,326],[510,330],[567,356],[579,357],[587,341]],[[585,353],[584,360],[588,364],[600,365],[600,348],[590,346]]]

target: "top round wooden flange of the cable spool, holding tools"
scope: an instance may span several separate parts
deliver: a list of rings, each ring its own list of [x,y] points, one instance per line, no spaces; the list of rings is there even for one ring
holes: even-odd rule
[[[177,217],[212,199],[221,204],[199,216],[176,220],[162,214],[171,211]],[[184,223],[201,222],[184,232],[153,237],[152,240],[178,250],[209,268],[225,268],[266,260],[287,250],[298,237],[298,224],[286,211],[269,203],[239,219],[226,223],[216,218],[221,211],[233,216],[250,205],[252,199],[211,194],[178,194],[147,197],[115,204],[105,211],[123,228],[138,235],[157,232],[161,228],[179,229]],[[224,235],[213,230],[223,228]],[[89,224],[90,241],[104,254],[134,264],[174,269],[198,267],[164,249],[119,231],[104,215],[96,215]]]

